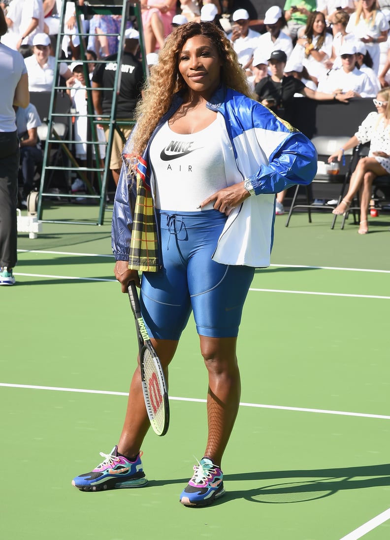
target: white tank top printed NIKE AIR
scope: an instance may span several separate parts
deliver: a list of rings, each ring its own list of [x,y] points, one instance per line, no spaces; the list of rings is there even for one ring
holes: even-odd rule
[[[175,133],[167,122],[152,140],[149,153],[156,208],[200,211],[197,207],[204,199],[227,187],[221,125],[216,120],[189,135]]]

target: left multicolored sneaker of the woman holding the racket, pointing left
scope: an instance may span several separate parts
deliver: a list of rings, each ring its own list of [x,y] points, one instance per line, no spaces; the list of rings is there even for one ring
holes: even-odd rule
[[[142,470],[141,456],[129,461],[118,456],[118,447],[114,446],[111,454],[100,452],[105,460],[91,473],[81,474],[73,478],[72,485],[80,491],[104,491],[118,488],[140,488],[148,483]]]

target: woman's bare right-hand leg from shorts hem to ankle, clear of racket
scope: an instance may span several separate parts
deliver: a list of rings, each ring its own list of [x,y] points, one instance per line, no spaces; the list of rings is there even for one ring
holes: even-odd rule
[[[241,396],[236,357],[237,338],[200,336],[201,352],[209,374],[207,395],[208,438],[204,456],[221,467]]]

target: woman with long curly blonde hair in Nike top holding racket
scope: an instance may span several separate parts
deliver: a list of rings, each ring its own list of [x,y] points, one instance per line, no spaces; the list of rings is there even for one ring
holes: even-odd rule
[[[115,277],[125,293],[143,271],[142,316],[166,377],[191,309],[200,336],[208,440],[180,497],[192,507],[224,494],[221,460],[240,403],[238,326],[254,269],[269,264],[275,192],[310,183],[316,171],[310,141],[250,96],[223,32],[209,22],[180,25],[160,51],[125,146],[127,164],[139,159],[137,181],[122,167],[115,194]],[[137,367],[118,446],[73,485],[144,485],[148,428]]]

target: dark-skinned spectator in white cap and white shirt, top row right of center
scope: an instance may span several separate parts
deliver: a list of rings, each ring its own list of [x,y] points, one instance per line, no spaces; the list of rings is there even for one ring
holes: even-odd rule
[[[263,58],[269,58],[272,51],[284,51],[289,58],[292,40],[282,31],[287,22],[279,6],[273,5],[265,12],[264,24],[266,32],[257,41],[257,48],[261,50]]]

